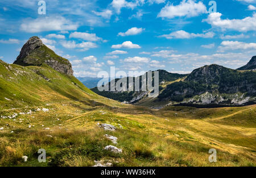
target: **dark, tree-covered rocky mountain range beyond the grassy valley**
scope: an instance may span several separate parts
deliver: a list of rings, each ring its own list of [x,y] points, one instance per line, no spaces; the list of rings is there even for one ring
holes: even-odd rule
[[[190,74],[159,71],[159,96],[148,98],[151,92],[93,92],[126,103],[148,106],[189,105],[240,106],[255,104],[256,56],[237,70],[221,65],[205,65]],[[140,76],[141,77],[141,76]],[[128,82],[128,79],[127,79]]]

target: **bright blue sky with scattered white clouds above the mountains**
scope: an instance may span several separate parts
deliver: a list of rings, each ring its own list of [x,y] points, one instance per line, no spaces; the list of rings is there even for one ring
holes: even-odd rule
[[[203,65],[236,69],[256,55],[256,0],[1,0],[0,59],[13,63],[39,36],[69,59],[75,76],[119,71],[189,73]]]

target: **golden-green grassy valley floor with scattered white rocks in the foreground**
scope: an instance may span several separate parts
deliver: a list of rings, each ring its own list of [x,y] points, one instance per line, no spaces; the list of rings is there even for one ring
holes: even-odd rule
[[[102,101],[106,103],[74,101],[1,111],[0,115],[29,110],[32,114],[19,114],[15,121],[0,119],[0,127],[5,128],[0,131],[0,165],[92,166],[94,160],[114,166],[256,165],[255,105],[150,110],[121,104],[109,106],[106,104],[112,101]],[[97,123],[110,123],[117,131],[104,131]],[[118,138],[116,146],[122,148],[122,154],[104,150],[113,145],[104,134]],[[47,152],[46,163],[37,160],[39,148]],[[208,161],[210,148],[217,150],[217,163]],[[26,163],[23,155],[28,156]]]

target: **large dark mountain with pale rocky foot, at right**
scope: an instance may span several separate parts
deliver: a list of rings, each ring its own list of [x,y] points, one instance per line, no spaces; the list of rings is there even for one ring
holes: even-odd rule
[[[159,94],[158,101],[245,105],[255,103],[255,96],[255,71],[238,71],[213,64],[195,69],[184,81],[168,85]]]

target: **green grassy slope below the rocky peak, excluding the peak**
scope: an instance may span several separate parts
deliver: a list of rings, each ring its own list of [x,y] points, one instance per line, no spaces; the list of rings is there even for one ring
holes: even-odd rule
[[[0,110],[69,100],[108,100],[73,76],[43,65],[22,67],[0,60]]]

